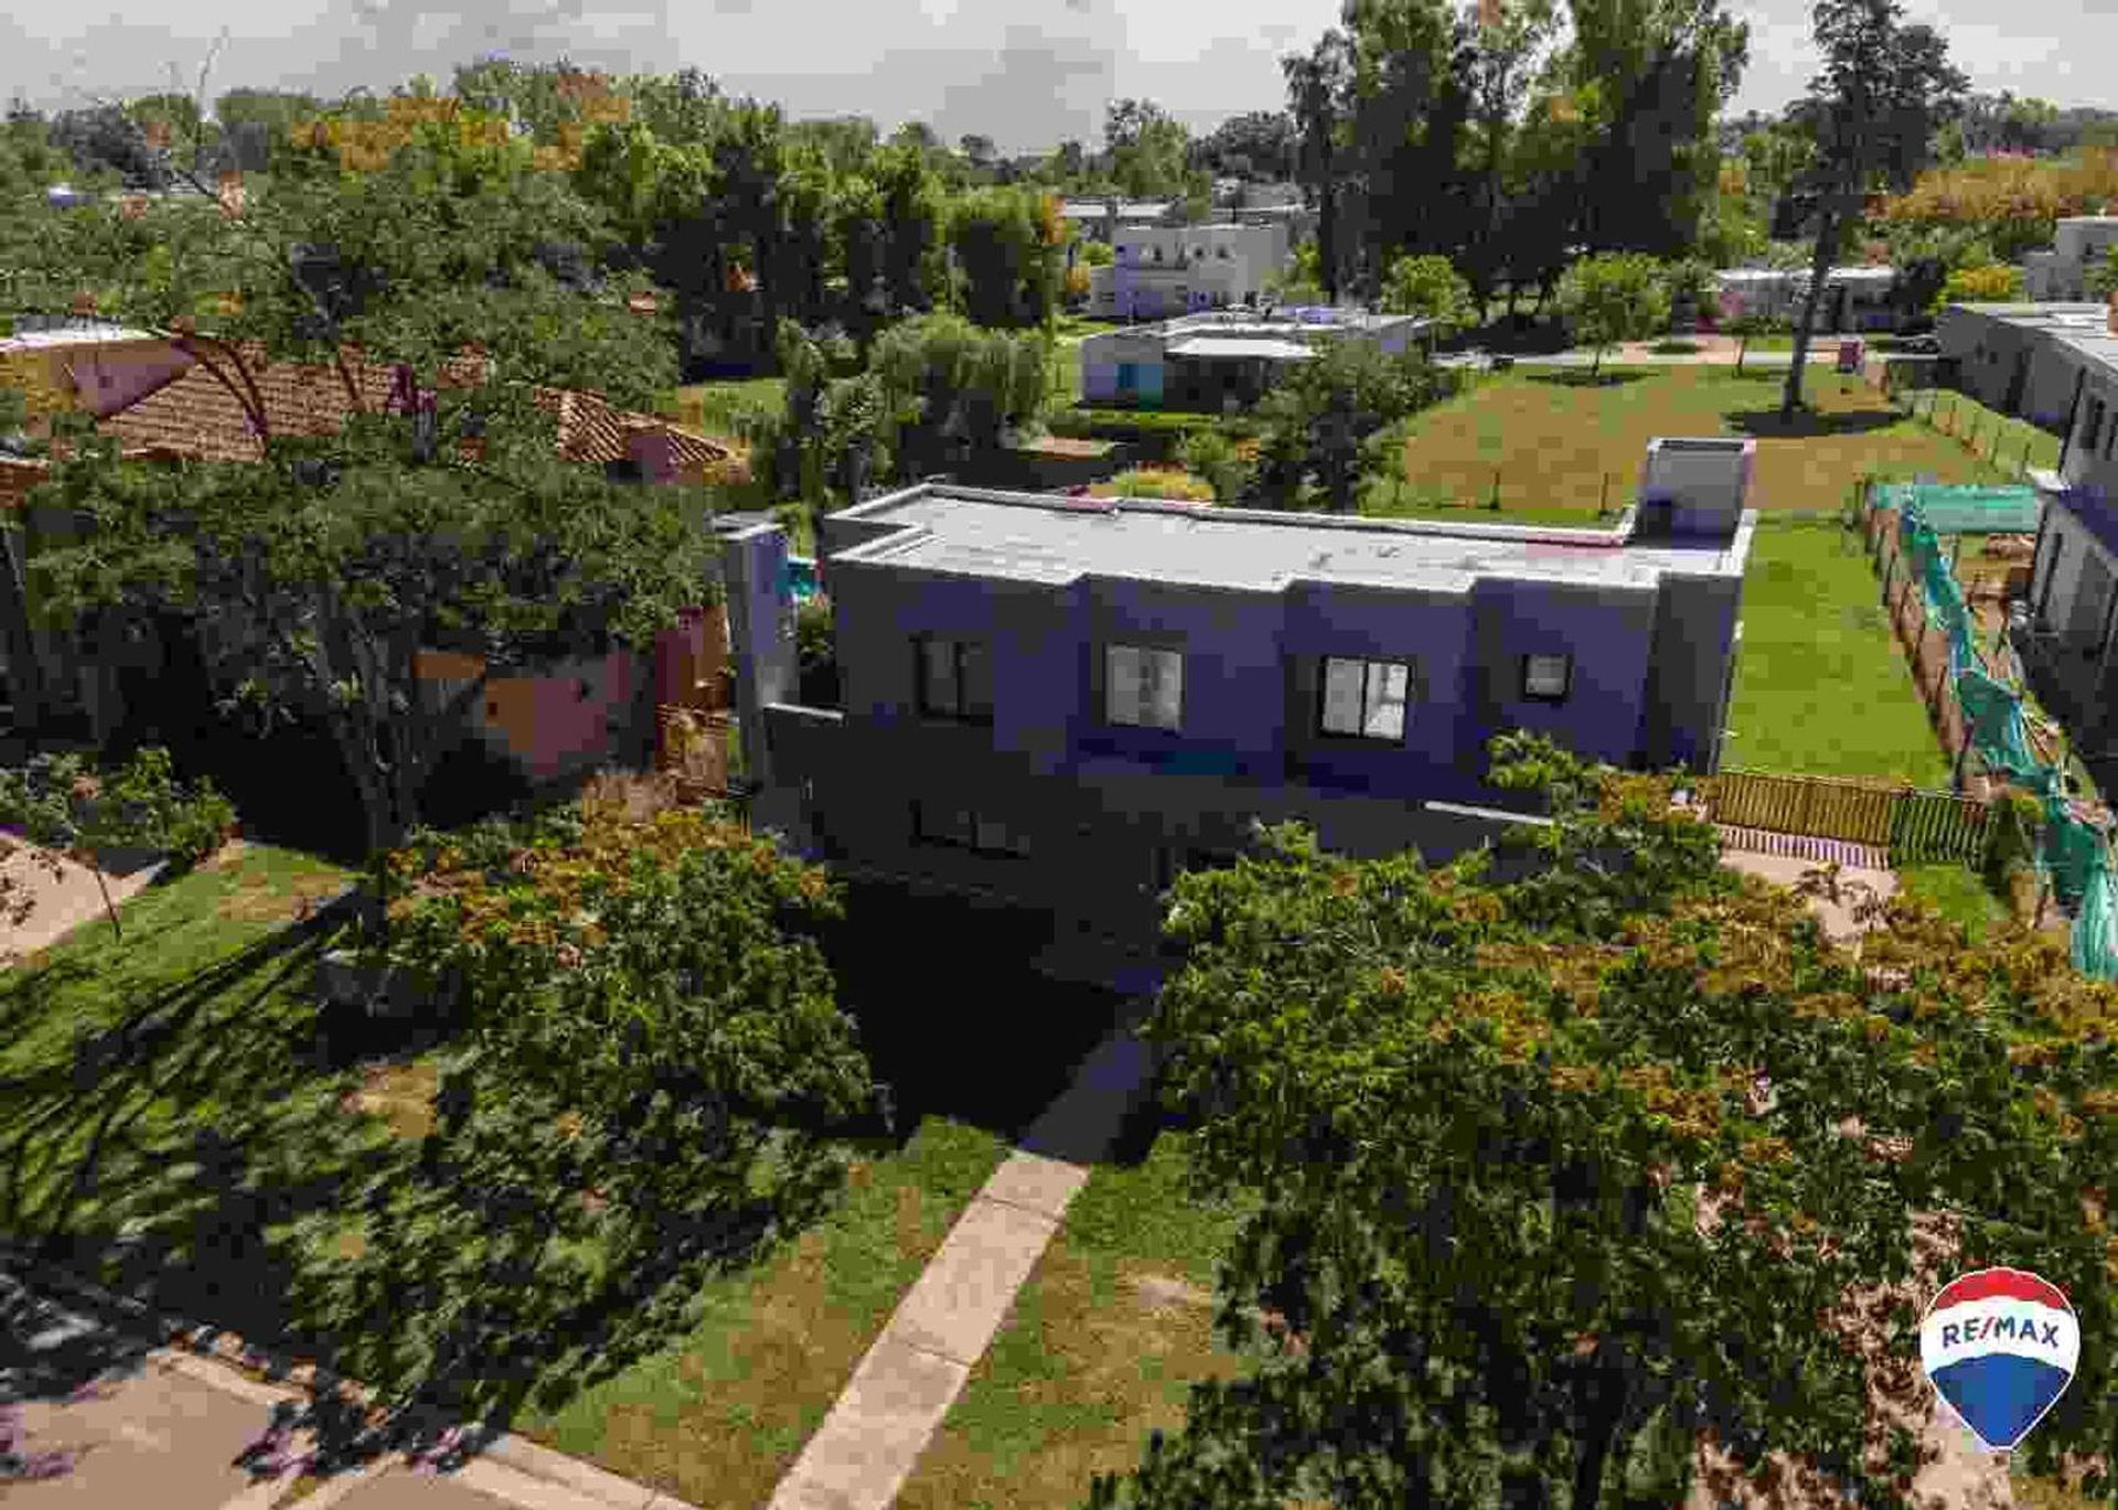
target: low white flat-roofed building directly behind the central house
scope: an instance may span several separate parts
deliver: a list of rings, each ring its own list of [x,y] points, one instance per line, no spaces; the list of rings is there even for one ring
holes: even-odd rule
[[[1243,409],[1292,362],[1311,360],[1326,337],[1375,341],[1400,354],[1428,326],[1413,316],[1360,309],[1267,309],[1106,330],[1080,343],[1082,400],[1207,413]]]

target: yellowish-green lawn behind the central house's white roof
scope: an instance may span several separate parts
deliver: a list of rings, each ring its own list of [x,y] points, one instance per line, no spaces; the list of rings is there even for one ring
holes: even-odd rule
[[[1385,513],[1461,517],[1495,491],[1500,519],[1595,523],[1633,500],[1654,436],[1747,434],[1758,438],[1752,504],[1760,510],[1836,510],[1866,474],[1944,483],[2002,481],[1982,457],[1925,424],[1896,413],[1866,381],[1813,371],[1813,407],[1779,424],[1779,373],[1737,377],[1722,366],[1639,366],[1582,373],[1497,373],[1417,415],[1404,434],[1404,483],[1381,483],[1370,502]],[[1455,504],[1455,506],[1451,506]]]

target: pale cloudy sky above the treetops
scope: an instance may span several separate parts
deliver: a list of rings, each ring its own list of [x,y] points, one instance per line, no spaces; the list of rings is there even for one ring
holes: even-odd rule
[[[1809,0],[1728,0],[1752,23],[1737,110],[1777,110],[1815,66]],[[1159,100],[1195,129],[1277,108],[1279,57],[1336,19],[1339,0],[155,0],[95,17],[95,2],[15,0],[0,15],[0,95],[78,104],[195,87],[216,36],[210,93],[239,85],[339,93],[415,72],[443,85],[481,53],[625,72],[703,68],[731,93],[794,114],[928,121],[1002,150],[1095,144],[1103,102]],[[2118,0],[1906,0],[1944,23],[1978,89],[2118,108]],[[2099,61],[2101,59],[2101,61]]]

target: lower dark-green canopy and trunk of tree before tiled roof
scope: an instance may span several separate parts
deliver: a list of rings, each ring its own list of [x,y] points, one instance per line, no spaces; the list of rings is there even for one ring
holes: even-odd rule
[[[326,729],[371,849],[400,843],[466,712],[510,669],[553,654],[652,650],[707,597],[703,508],[557,460],[551,419],[481,405],[481,460],[447,430],[421,455],[398,417],[333,441],[280,441],[265,462],[121,462],[85,445],[38,491],[89,532],[36,553],[38,599],[66,623],[176,614],[229,712]],[[477,669],[421,676],[421,652]],[[436,697],[436,686],[445,695]]]

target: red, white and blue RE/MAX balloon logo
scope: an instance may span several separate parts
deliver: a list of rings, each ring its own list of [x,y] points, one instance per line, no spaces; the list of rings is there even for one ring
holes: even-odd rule
[[[2067,1296],[2027,1269],[1951,1279],[1919,1324],[1919,1366],[1993,1453],[2029,1436],[2080,1355],[2082,1326]]]

